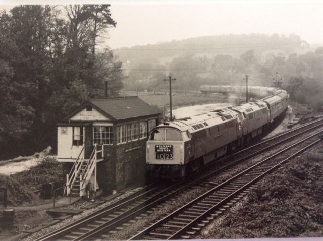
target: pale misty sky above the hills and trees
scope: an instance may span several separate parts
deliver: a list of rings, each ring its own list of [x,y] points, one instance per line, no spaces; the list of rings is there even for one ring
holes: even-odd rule
[[[44,4],[41,1],[8,1],[8,4]],[[52,4],[76,3],[58,0]],[[77,1],[78,4],[103,3]],[[114,48],[156,44],[221,34],[293,33],[309,44],[323,44],[323,0],[303,1],[156,1],[113,0],[106,45]],[[2,6],[4,7],[4,6]]]

